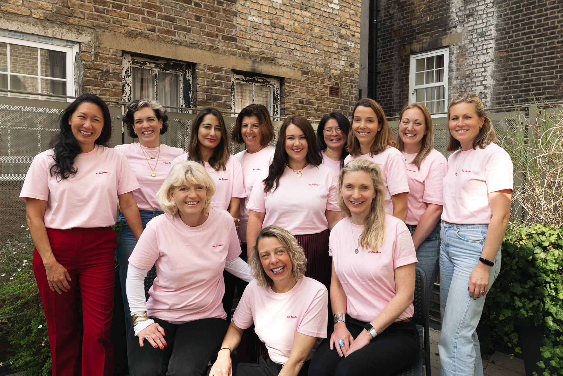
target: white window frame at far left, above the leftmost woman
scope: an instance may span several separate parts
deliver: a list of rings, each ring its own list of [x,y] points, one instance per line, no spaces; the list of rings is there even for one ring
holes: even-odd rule
[[[20,39],[20,38],[11,38],[0,36],[0,42],[8,43],[8,90],[10,90],[10,45],[20,45],[20,46],[27,46],[27,47],[34,47],[34,48],[43,48],[44,50],[53,50],[53,51],[61,51],[66,52],[66,94],[68,96],[75,96],[76,89],[75,89],[75,81],[76,81],[76,74],[74,71],[74,62],[75,58],[79,51],[78,43],[75,43],[73,46],[61,46],[51,43],[42,43],[42,42],[35,42],[29,41],[28,39]],[[38,67],[41,67],[41,54],[38,54]],[[4,73],[2,73],[4,74]],[[43,77],[40,76],[41,68],[39,68],[38,76],[33,74],[15,74],[14,76],[24,76],[24,77],[38,77],[39,78],[39,90],[41,91],[41,79],[54,79],[55,81],[62,81],[60,78],[53,78],[53,77]],[[7,93],[8,96],[11,96],[11,93]],[[39,99],[42,99],[42,96],[49,96],[48,94],[40,95],[37,94]],[[44,98],[43,98],[44,99]],[[49,98],[47,98],[49,99]],[[72,102],[74,99],[67,98],[66,101]]]

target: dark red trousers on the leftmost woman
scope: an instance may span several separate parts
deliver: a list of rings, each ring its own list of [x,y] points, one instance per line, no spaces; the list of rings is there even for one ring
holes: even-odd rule
[[[68,281],[70,290],[66,293],[51,291],[43,260],[35,249],[33,272],[47,319],[53,376],[113,376],[110,327],[115,285],[115,232],[111,227],[48,228],[47,234],[57,262],[66,268],[72,279]],[[82,300],[82,346],[78,299]]]

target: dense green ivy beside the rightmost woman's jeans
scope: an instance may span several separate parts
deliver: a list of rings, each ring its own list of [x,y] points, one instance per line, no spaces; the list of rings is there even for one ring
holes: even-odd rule
[[[507,231],[501,273],[485,301],[491,336],[521,353],[518,326],[544,329],[538,365],[544,376],[563,374],[563,233],[546,225]],[[511,357],[513,354],[511,355]]]

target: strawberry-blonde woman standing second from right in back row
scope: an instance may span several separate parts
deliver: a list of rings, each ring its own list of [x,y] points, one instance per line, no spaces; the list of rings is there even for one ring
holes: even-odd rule
[[[439,271],[440,215],[444,207],[442,180],[448,161],[434,149],[432,117],[425,105],[413,103],[399,114],[399,151],[409,182],[406,226],[413,236],[418,266],[424,269],[428,291],[432,291]],[[428,294],[430,302],[430,294]]]

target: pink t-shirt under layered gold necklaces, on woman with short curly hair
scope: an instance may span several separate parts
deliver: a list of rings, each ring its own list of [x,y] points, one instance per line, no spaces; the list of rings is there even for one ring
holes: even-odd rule
[[[164,179],[168,175],[168,172],[172,168],[172,160],[186,152],[184,149],[169,147],[168,145],[160,144],[160,154],[158,156],[158,161],[155,158],[151,160],[146,158],[145,154],[141,151],[139,143],[133,144],[123,144],[115,145],[115,149],[123,152],[127,157],[127,161],[131,165],[137,182],[141,185],[141,188],[135,189],[133,191],[133,197],[137,201],[137,206],[139,210],[157,210],[160,209],[160,205],[157,202],[157,191],[160,185],[164,183]],[[144,148],[149,156],[154,157],[158,153],[158,148]],[[149,162],[147,163],[147,159]],[[158,162],[158,163],[157,163]],[[154,173],[157,174],[153,178],[150,169],[154,167]]]

